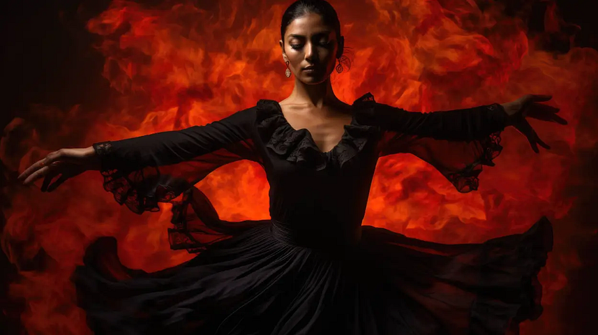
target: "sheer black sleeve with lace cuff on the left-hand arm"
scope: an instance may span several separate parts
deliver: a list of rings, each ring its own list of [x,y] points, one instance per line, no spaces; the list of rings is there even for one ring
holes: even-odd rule
[[[158,211],[222,165],[260,163],[251,132],[255,110],[236,112],[204,126],[94,143],[104,188],[119,204],[141,214]]]

